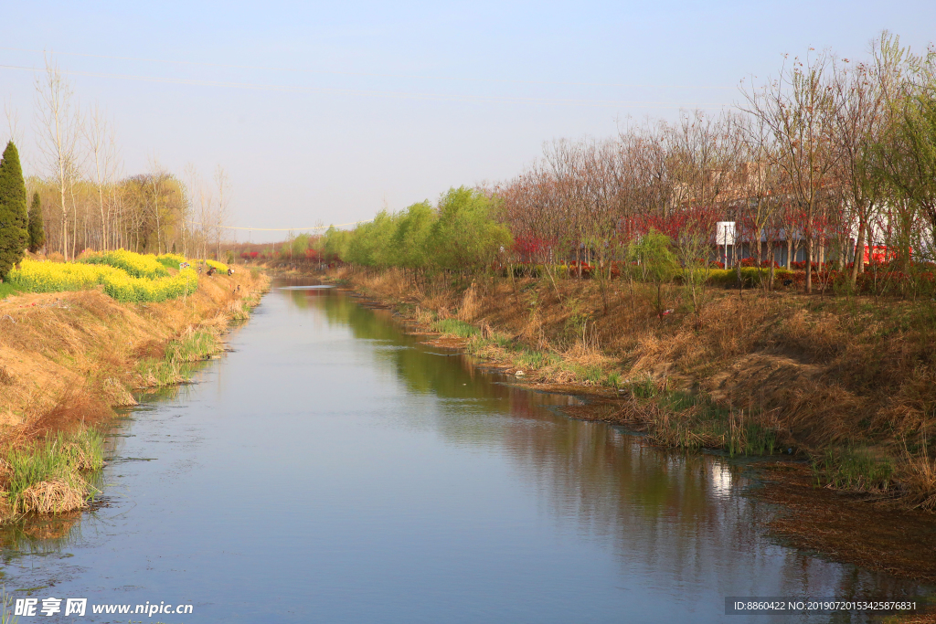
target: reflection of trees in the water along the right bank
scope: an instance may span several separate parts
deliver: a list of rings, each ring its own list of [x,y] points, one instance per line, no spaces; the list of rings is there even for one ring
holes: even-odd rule
[[[448,443],[505,449],[520,478],[548,497],[559,522],[609,539],[628,569],[659,577],[662,587],[721,592],[722,600],[776,592],[897,596],[913,587],[766,541],[762,516],[771,512],[732,494],[740,477],[720,457],[664,451],[603,423],[555,414],[548,406],[574,399],[492,383],[493,375],[469,358],[433,355],[418,337],[402,335],[389,312],[351,297],[325,291],[290,297],[324,312],[329,325],[376,342],[373,357],[381,366],[411,392],[437,398],[431,427]]]

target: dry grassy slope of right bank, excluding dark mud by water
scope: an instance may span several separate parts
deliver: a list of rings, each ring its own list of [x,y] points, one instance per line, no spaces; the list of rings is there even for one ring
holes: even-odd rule
[[[936,305],[666,286],[333,273],[527,382],[602,397],[590,417],[661,445],[809,458],[816,485],[936,510]],[[613,397],[613,399],[611,399]]]

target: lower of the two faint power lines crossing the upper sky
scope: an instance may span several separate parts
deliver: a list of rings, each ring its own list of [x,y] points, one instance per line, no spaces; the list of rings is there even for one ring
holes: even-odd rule
[[[22,69],[25,71],[42,72],[44,69],[38,67],[26,67],[22,65],[0,65],[4,69]],[[443,101],[461,101],[461,102],[488,102],[494,104],[547,104],[556,106],[591,106],[591,107],[616,107],[616,106],[653,106],[662,109],[685,109],[685,108],[722,108],[731,106],[724,103],[696,103],[674,105],[672,102],[649,102],[649,101],[615,101],[615,100],[574,100],[574,99],[546,99],[539,97],[501,97],[492,95],[460,95],[460,94],[417,94],[407,92],[393,91],[360,91],[355,89],[332,89],[327,87],[290,87],[277,84],[256,84],[251,82],[222,82],[218,80],[191,80],[178,78],[161,78],[156,76],[138,76],[134,74],[108,74],[90,71],[75,71],[69,69],[60,70],[64,74],[73,76],[89,76],[92,78],[115,78],[120,80],[141,80],[144,82],[163,82],[169,84],[185,84],[194,86],[223,87],[231,89],[247,89],[253,91],[276,91],[285,93],[311,93],[311,94],[337,94],[337,95],[365,95],[375,97],[397,97],[402,99],[419,100],[443,100]]]

